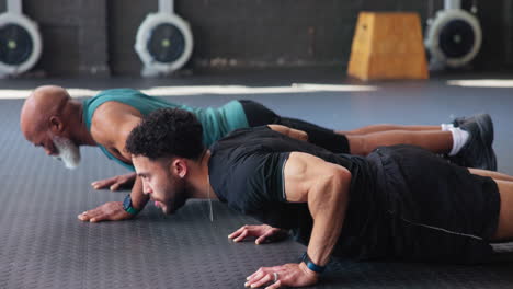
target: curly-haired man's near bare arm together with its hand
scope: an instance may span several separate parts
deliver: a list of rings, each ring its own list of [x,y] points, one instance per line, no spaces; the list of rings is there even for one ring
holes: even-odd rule
[[[324,266],[342,231],[349,203],[351,172],[311,154],[290,153],[284,169],[285,195],[290,203],[308,203],[314,228],[308,244],[310,259]],[[318,281],[319,274],[305,263],[262,267],[249,276],[246,286],[276,289],[282,286],[304,287]]]

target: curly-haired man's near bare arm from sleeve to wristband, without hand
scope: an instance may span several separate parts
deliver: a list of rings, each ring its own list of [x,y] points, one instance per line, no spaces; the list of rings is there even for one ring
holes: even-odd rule
[[[342,231],[351,172],[317,157],[293,152],[284,175],[287,200],[308,203],[314,218],[308,255],[314,263],[323,266]]]

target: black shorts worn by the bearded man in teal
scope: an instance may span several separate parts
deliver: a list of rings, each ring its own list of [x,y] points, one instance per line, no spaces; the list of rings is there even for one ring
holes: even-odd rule
[[[347,138],[335,134],[332,129],[323,128],[296,118],[281,117],[260,103],[240,100],[250,127],[265,125],[283,125],[299,129],[308,134],[308,141],[334,153],[350,153]]]

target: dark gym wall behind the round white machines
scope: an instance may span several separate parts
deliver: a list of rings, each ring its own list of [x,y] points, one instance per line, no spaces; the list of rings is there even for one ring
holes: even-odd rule
[[[464,8],[471,0],[464,0]],[[175,0],[192,27],[195,70],[345,67],[360,11],[414,11],[423,24],[443,0]],[[480,70],[513,65],[513,0],[480,1]],[[24,0],[42,32],[43,55],[33,71],[46,76],[136,76],[142,67],[135,36],[157,0]],[[0,2],[0,11],[5,2]]]

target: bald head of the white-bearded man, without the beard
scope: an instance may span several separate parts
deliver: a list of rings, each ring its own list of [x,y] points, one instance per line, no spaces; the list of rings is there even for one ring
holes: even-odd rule
[[[27,140],[43,130],[47,130],[50,118],[61,115],[71,100],[68,92],[60,86],[45,85],[35,89],[23,104],[20,125]]]

